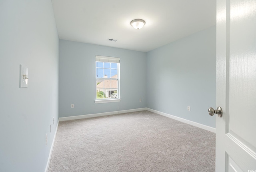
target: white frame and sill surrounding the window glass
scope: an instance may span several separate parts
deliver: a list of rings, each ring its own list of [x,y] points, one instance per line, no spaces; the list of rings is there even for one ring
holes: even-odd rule
[[[97,62],[108,62],[108,63],[117,63],[117,73],[118,73],[118,98],[104,98],[102,100],[97,99],[97,76],[96,76],[96,63]],[[120,58],[116,57],[108,57],[108,56],[96,56],[95,60],[95,100],[94,102],[97,103],[110,103],[110,102],[120,102]]]

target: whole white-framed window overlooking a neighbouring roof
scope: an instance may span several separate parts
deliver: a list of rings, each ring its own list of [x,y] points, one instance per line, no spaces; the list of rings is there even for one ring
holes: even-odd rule
[[[120,58],[96,56],[95,103],[120,102]]]

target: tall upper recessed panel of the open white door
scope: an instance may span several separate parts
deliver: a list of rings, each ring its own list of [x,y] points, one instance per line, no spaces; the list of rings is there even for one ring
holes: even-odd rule
[[[229,129],[253,149],[256,136],[248,131],[256,131],[256,1],[231,0],[230,6]]]

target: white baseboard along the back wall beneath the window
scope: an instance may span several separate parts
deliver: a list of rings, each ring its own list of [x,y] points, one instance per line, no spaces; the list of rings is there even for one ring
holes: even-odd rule
[[[99,116],[124,114],[124,113],[137,112],[137,111],[143,111],[143,110],[147,110],[147,109],[146,108],[138,108],[138,109],[129,109],[129,110],[119,110],[119,111],[114,111],[114,112],[104,112],[104,113],[98,113],[98,114],[68,116],[68,117],[59,118],[59,121],[78,120],[78,119],[93,118],[93,117],[99,117]]]

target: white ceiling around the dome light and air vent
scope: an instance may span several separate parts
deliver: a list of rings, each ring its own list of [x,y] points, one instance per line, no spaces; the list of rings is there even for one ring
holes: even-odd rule
[[[216,0],[52,0],[52,5],[60,39],[142,52],[216,24]],[[140,30],[130,25],[136,18],[146,21]]]

